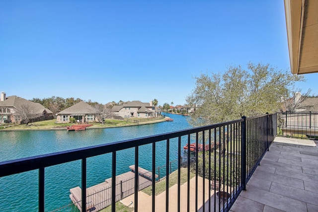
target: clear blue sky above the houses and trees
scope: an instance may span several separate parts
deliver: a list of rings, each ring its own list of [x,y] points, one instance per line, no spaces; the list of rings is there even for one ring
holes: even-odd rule
[[[7,96],[182,105],[194,76],[248,62],[290,70],[283,0],[0,1]]]

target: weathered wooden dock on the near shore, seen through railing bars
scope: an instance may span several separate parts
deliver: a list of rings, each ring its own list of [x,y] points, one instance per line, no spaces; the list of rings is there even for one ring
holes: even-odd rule
[[[131,168],[131,166],[130,166]],[[133,165],[132,168],[135,168]],[[132,169],[131,168],[131,169]],[[146,169],[138,167],[139,173],[139,191],[152,185],[149,176],[152,173]],[[158,175],[156,174],[156,177]],[[108,178],[105,182],[99,183],[86,189],[86,210],[97,212],[111,205],[111,184],[112,179]],[[81,210],[81,189],[75,187],[70,189],[70,198],[72,202]],[[135,193],[135,173],[132,171],[116,176],[116,202]]]

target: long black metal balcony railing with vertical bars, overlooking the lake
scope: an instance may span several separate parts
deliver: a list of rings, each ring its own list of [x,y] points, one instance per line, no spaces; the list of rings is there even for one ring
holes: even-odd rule
[[[111,153],[112,181],[108,188],[97,191],[106,192],[107,190],[109,196],[107,201],[103,200],[94,203],[96,205],[92,205],[89,197],[94,194],[86,194],[86,189],[81,189],[81,198],[74,205],[81,211],[94,211],[97,205],[104,204],[103,207],[106,207],[106,205],[110,204],[112,206],[111,211],[115,212],[116,201],[128,195],[128,193],[124,194],[120,189],[123,188],[123,182],[118,185],[115,180],[117,175],[117,152],[134,148],[136,170],[133,179],[133,191],[130,190],[129,194],[135,194],[134,210],[137,212],[142,207],[138,205],[138,191],[141,190],[140,186],[142,183],[139,180],[138,171],[139,148],[143,145],[151,145],[151,172],[154,174],[152,174],[150,186],[152,187],[151,206],[153,212],[155,212],[156,207],[163,207],[165,211],[169,211],[169,177],[170,173],[175,169],[178,173],[177,201],[176,203],[173,202],[173,204],[176,204],[177,211],[183,211],[181,207],[185,207],[188,212],[198,210],[229,211],[239,193],[245,189],[248,179],[275,138],[276,129],[276,114],[266,114],[251,118],[243,117],[235,121],[173,133],[3,161],[0,162],[0,177],[38,170],[38,211],[44,212],[46,167],[81,160],[81,188],[86,188],[86,159]],[[165,150],[165,167],[163,170],[156,167],[156,145],[162,141],[166,144],[165,149],[162,149],[162,151]],[[186,143],[188,148],[185,155],[181,154],[181,149],[183,148],[181,143]],[[177,148],[178,159],[176,166],[172,165],[170,161],[172,148]],[[187,159],[185,160],[184,158]],[[181,188],[181,177],[184,177],[181,176],[181,167],[187,167],[185,176],[187,179],[186,189],[183,186]],[[161,173],[159,174],[158,172]],[[191,172],[195,174],[194,178],[190,178]],[[159,174],[160,177],[155,173]],[[163,177],[162,174],[165,176]],[[156,183],[159,183],[158,181],[162,177],[165,179],[165,206],[164,203],[157,202],[156,199]],[[191,190],[192,188],[195,189]],[[195,193],[195,200],[190,201],[190,191],[191,197],[193,192]],[[186,198],[181,198],[181,192],[187,194]],[[108,203],[106,204],[105,202]]]

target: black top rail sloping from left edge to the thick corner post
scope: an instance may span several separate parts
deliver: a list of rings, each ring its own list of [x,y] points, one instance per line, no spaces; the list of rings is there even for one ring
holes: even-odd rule
[[[125,141],[117,141],[112,143],[105,143],[95,146],[71,149],[66,151],[54,152],[49,154],[31,156],[26,158],[8,160],[0,162],[0,177],[17,174],[20,172],[31,171],[48,166],[58,165],[61,163],[71,162],[106,154],[118,150],[132,148],[135,146],[145,145],[157,141],[164,141],[172,138],[182,137],[197,132],[202,132],[210,129],[216,129],[218,127],[227,126],[235,123],[243,122],[243,119],[234,121],[218,123],[203,127],[191,128],[182,131],[176,131],[172,133],[160,134],[156,136],[143,137],[138,139],[131,139]]]

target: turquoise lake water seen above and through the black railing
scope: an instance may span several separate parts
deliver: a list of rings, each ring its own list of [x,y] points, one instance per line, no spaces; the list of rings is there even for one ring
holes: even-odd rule
[[[188,129],[186,116],[166,114],[173,122],[133,127],[68,131],[0,132],[0,161],[64,151],[114,141],[152,136]],[[182,140],[185,145],[186,139]],[[177,140],[170,141],[170,160],[177,158]],[[117,152],[116,174],[130,171],[135,162],[135,150]],[[139,148],[139,166],[151,170],[152,145]],[[156,145],[156,166],[165,164],[165,141]],[[45,169],[45,210],[71,204],[70,189],[80,186],[81,162],[73,161]],[[111,177],[111,154],[87,158],[87,187]],[[37,211],[38,170],[0,178],[0,211]]]

